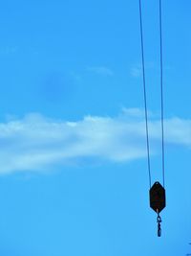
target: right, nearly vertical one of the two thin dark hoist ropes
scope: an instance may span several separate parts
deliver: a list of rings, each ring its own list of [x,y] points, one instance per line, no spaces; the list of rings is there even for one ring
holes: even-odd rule
[[[160,100],[161,100],[161,150],[162,150],[162,177],[163,187],[165,185],[165,164],[164,164],[164,110],[163,110],[163,57],[162,57],[162,20],[161,0],[159,0],[159,40],[160,40]]]

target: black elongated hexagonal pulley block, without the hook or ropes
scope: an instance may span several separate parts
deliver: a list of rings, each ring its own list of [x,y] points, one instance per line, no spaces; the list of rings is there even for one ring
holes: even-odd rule
[[[150,206],[156,212],[160,213],[166,206],[165,189],[157,181],[149,191]]]

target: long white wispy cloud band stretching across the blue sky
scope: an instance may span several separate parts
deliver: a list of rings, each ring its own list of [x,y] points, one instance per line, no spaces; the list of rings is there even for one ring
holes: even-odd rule
[[[159,120],[149,123],[152,153],[158,153]],[[191,147],[191,120],[165,120],[165,142]],[[145,124],[138,108],[117,117],[86,116],[77,122],[28,114],[0,124],[0,173],[45,171],[80,159],[128,162],[146,156]]]

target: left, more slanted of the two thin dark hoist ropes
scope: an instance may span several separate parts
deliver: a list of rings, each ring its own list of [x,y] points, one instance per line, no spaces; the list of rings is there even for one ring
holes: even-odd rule
[[[142,33],[141,0],[139,0],[139,21],[140,21],[140,38],[141,38],[142,79],[143,79],[143,91],[144,91],[144,114],[145,114],[145,128],[146,128],[147,162],[148,162],[148,173],[149,173],[149,186],[151,188],[151,163],[150,163],[148,111],[147,111],[146,80],[145,80],[145,65],[144,65],[144,43],[143,43],[143,33]]]

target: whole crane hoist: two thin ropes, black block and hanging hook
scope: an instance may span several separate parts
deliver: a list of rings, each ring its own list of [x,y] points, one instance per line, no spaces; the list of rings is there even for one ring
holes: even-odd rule
[[[149,143],[149,124],[148,124],[148,108],[147,108],[147,94],[146,94],[146,79],[145,79],[145,60],[144,60],[144,40],[143,40],[143,26],[142,26],[142,7],[141,0],[139,0],[139,22],[140,22],[140,40],[141,40],[141,60],[142,60],[142,79],[143,79],[143,94],[144,94],[144,112],[145,112],[145,129],[146,129],[146,148],[147,148],[147,162],[149,173],[150,186],[150,206],[158,214],[158,236],[161,235],[159,213],[165,207],[165,164],[164,164],[164,111],[163,111],[163,56],[162,56],[162,15],[161,15],[161,0],[159,0],[159,57],[160,57],[160,124],[161,124],[161,166],[163,187],[159,181],[152,186],[151,179],[151,160],[150,160],[150,143]]]

